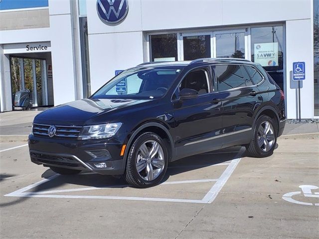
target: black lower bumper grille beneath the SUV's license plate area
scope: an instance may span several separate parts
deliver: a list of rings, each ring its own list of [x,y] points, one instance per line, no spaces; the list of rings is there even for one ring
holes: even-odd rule
[[[76,159],[72,156],[60,156],[53,154],[46,154],[40,152],[30,152],[32,159],[43,164],[68,166],[68,167],[83,167]]]

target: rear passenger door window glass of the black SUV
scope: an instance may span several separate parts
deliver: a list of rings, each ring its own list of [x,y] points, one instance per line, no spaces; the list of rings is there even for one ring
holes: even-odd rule
[[[253,85],[247,71],[241,65],[215,65],[212,68],[215,72],[218,91]]]

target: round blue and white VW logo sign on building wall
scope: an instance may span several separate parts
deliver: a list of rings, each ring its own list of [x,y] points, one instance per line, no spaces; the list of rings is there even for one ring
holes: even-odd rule
[[[122,21],[128,14],[128,0],[98,0],[97,11],[100,19],[106,24]]]

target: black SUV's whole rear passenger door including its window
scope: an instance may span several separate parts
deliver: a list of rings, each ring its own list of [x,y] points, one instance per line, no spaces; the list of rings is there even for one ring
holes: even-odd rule
[[[223,147],[249,143],[253,113],[262,103],[259,90],[244,65],[213,65],[214,89],[222,102]]]

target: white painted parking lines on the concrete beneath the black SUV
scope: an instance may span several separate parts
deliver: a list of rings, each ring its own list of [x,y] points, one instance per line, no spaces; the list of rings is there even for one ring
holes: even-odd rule
[[[238,152],[236,156],[240,156],[243,152],[243,148]],[[54,178],[58,177],[59,174],[53,175],[47,179],[43,179],[37,183],[31,184],[27,187],[21,188],[12,193],[4,196],[8,197],[34,197],[34,198],[77,198],[77,199],[113,199],[113,200],[137,200],[137,201],[157,201],[157,202],[179,202],[179,203],[212,203],[219,191],[227,182],[236,166],[238,165],[241,158],[235,158],[227,163],[227,168],[222,175],[217,179],[199,179],[199,180],[185,180],[185,181],[166,181],[160,185],[169,184],[188,184],[188,183],[203,183],[203,182],[215,182],[211,189],[206,193],[201,200],[189,200],[189,199],[174,199],[174,198],[146,198],[146,197],[118,197],[118,196],[90,196],[90,195],[52,195],[52,193],[65,193],[65,192],[77,192],[77,191],[88,191],[96,189],[116,188],[116,187],[127,187],[129,185],[111,185],[106,187],[87,187],[87,188],[74,188],[74,189],[62,189],[62,190],[50,190],[50,191],[38,191],[38,192],[26,192],[32,188],[35,188],[41,184],[44,184]],[[217,164],[216,164],[217,165]],[[212,165],[215,166],[215,165]]]

